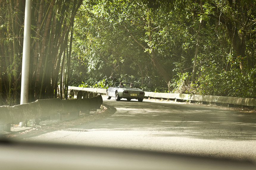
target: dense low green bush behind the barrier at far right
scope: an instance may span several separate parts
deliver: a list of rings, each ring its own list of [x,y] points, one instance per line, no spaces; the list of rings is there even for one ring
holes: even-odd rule
[[[256,98],[256,69],[246,74],[217,67],[203,68],[197,93],[202,95]]]

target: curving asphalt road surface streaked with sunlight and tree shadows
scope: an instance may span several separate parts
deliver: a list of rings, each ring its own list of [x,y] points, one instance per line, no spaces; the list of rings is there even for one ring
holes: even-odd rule
[[[116,112],[26,140],[256,162],[255,113],[155,100],[103,104]]]

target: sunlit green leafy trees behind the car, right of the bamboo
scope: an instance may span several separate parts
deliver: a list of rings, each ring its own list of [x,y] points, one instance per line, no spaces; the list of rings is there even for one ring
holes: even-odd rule
[[[104,88],[99,80],[105,77],[150,77],[155,92],[255,97],[254,4],[202,1],[201,9],[199,1],[139,2],[84,1],[74,23],[72,83]],[[200,19],[196,83],[191,84]]]

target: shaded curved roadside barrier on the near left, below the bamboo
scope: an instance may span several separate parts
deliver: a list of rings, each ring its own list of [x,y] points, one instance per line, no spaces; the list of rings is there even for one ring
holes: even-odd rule
[[[0,125],[13,124],[39,117],[77,112],[99,108],[103,103],[98,94],[93,98],[60,100],[59,98],[41,99],[15,106],[0,106]]]

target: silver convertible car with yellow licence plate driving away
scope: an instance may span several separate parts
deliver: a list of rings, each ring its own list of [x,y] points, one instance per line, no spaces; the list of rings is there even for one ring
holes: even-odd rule
[[[139,88],[130,87],[130,83],[127,82],[116,82],[113,87],[107,89],[106,96],[107,99],[115,97],[116,101],[119,101],[121,98],[126,98],[128,101],[131,99],[138,99],[138,101],[143,101],[144,91]]]

